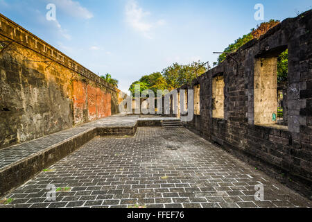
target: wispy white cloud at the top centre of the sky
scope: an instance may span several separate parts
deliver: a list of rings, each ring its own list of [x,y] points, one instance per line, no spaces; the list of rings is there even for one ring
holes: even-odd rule
[[[137,1],[130,0],[125,6],[125,20],[126,22],[135,29],[139,31],[147,38],[152,38],[150,31],[155,26],[162,26],[166,22],[164,19],[161,19],[155,23],[148,22],[146,17],[150,15],[150,12],[144,11],[143,8],[140,8],[137,4]]]

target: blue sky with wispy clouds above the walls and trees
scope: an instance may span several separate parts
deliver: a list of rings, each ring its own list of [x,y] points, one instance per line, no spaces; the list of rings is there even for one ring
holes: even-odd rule
[[[56,6],[56,21],[46,5]],[[264,6],[256,21],[254,6]],[[119,88],[173,62],[215,62],[251,28],[295,17],[311,0],[0,0],[0,12],[96,74],[110,73]]]

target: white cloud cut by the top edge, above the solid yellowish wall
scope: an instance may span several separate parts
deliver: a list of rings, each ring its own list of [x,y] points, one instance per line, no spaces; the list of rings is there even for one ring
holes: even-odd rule
[[[60,9],[72,17],[80,17],[83,19],[91,19],[94,17],[92,12],[80,6],[78,1],[73,0],[48,0],[49,3],[53,2],[56,5],[56,10]]]

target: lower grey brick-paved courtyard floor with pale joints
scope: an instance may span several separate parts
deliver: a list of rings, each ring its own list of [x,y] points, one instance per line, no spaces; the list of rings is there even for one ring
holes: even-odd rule
[[[46,200],[47,185],[63,188]],[[254,200],[263,185],[264,201]],[[186,128],[96,137],[6,196],[2,207],[311,207]],[[137,207],[136,205],[136,207]]]

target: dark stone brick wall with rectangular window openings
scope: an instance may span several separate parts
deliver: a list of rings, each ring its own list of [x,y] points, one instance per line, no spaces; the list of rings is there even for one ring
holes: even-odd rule
[[[268,73],[275,72],[275,58],[287,48],[288,126],[274,124],[272,110],[264,113],[266,123],[270,124],[257,125],[259,82],[254,78],[259,78],[257,69],[261,68],[257,62],[262,61],[264,65],[271,61],[270,65],[274,65],[272,70],[263,71],[263,80],[271,85],[262,87],[272,89],[272,92],[266,91],[262,99],[275,103],[277,84]],[[284,20],[232,56],[234,59],[227,58],[188,86],[193,89],[194,85],[200,84],[200,115],[184,125],[311,198],[312,10]],[[212,80],[221,73],[225,83],[224,117],[217,119],[212,116]],[[263,109],[270,105],[272,103],[264,105]]]

